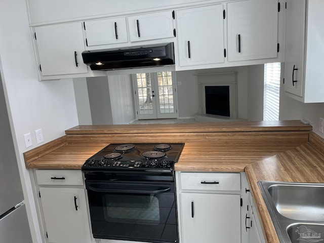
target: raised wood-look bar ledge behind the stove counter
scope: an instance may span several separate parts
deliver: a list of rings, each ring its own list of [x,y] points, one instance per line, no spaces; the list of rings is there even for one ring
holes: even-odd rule
[[[311,131],[311,125],[300,120],[231,121],[228,123],[139,124],[139,125],[79,125],[65,131],[66,135],[143,134],[143,133],[226,133],[226,132],[289,132]]]

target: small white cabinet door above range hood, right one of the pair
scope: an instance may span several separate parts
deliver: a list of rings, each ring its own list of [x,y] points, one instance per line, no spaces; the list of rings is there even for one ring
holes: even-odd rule
[[[131,42],[174,36],[172,11],[130,16],[127,19]]]

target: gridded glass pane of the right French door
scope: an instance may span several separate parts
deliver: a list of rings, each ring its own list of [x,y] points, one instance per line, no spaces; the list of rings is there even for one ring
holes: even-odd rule
[[[160,113],[173,113],[172,72],[157,72],[157,81]]]

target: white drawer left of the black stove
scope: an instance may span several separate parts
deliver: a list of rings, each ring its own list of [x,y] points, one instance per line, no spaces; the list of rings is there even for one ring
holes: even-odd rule
[[[36,170],[38,185],[83,185],[82,171]]]

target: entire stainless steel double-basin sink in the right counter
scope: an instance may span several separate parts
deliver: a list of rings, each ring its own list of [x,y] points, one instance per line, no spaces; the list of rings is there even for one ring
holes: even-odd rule
[[[324,241],[324,184],[259,181],[280,242]]]

